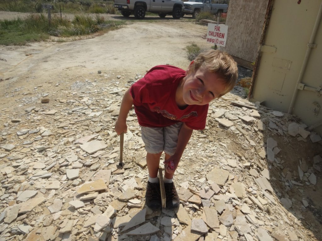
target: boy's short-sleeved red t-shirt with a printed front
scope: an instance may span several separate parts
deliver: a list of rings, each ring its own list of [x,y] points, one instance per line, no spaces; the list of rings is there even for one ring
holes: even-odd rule
[[[188,105],[181,110],[175,103],[176,89],[185,76],[183,69],[159,65],[131,86],[130,94],[141,126],[165,127],[181,121],[191,129],[205,128],[208,104]]]

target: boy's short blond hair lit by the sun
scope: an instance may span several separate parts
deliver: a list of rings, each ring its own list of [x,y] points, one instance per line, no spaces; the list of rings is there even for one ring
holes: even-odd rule
[[[235,86],[238,78],[237,63],[232,56],[221,50],[207,50],[200,53],[189,66],[188,71],[197,71],[199,68],[205,68],[209,72],[215,72],[225,83],[226,89],[219,97],[227,94]]]

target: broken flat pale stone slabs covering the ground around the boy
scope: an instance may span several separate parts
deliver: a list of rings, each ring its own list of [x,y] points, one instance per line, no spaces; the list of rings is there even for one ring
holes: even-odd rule
[[[134,111],[122,170],[113,130],[122,94],[140,77],[103,72],[57,92],[53,83],[52,93],[22,86],[2,97],[16,95],[24,112],[0,113],[1,241],[321,240],[319,221],[304,218],[314,208],[305,191],[321,178],[321,137],[249,103],[240,86],[211,103],[206,129],[193,133],[174,178],[180,207],[147,208]],[[320,150],[294,160],[297,171],[281,155],[294,142]]]

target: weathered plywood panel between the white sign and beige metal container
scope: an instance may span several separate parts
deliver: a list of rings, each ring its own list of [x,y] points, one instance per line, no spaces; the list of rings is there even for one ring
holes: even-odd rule
[[[231,0],[226,25],[228,34],[223,50],[255,62],[268,0]]]

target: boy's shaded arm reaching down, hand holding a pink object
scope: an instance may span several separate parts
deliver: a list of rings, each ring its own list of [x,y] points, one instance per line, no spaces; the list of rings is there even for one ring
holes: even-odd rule
[[[178,135],[178,142],[177,142],[177,147],[175,149],[175,154],[173,154],[173,156],[171,156],[167,161],[165,161],[164,163],[167,164],[166,165],[166,172],[168,173],[174,173],[175,169],[177,168],[180,158],[183,154],[183,152],[185,151],[185,147],[187,146],[190,137],[192,135],[193,129],[187,127],[185,125],[185,123],[182,124],[182,127],[179,131],[179,135]],[[173,161],[175,168],[171,169],[169,167],[169,162]]]

